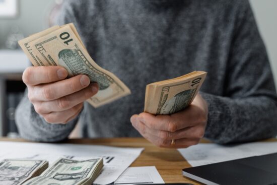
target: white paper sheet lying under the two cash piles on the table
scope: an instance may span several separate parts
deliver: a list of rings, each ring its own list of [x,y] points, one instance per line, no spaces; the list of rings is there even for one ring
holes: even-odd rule
[[[114,182],[141,154],[143,148],[119,148],[101,145],[40,144],[0,142],[0,161],[3,159],[41,159],[55,162],[59,157],[70,159],[104,158],[104,167],[94,183]]]

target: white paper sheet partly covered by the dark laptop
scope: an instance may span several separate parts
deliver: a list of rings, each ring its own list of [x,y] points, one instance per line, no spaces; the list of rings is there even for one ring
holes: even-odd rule
[[[200,166],[245,157],[277,152],[277,142],[254,142],[240,145],[222,146],[198,144],[186,149],[178,149],[191,166]]]

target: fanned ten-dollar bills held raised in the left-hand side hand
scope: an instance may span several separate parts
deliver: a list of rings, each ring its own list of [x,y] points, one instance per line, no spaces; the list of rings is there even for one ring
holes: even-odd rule
[[[19,45],[34,66],[62,66],[70,77],[84,74],[91,82],[97,82],[99,92],[87,100],[94,107],[130,94],[123,82],[90,57],[72,23],[31,35],[20,40]]]

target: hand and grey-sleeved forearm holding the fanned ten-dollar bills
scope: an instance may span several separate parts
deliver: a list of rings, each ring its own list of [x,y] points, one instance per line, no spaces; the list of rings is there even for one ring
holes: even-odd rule
[[[25,139],[55,142],[71,133],[83,102],[97,93],[97,84],[85,75],[65,79],[62,67],[30,67],[23,73],[27,93],[16,111],[16,123]]]

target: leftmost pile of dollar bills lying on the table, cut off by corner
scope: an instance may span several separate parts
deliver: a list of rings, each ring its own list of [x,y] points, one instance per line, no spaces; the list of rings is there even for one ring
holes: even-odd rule
[[[6,159],[0,162],[0,184],[17,185],[40,175],[48,167],[43,160]]]

